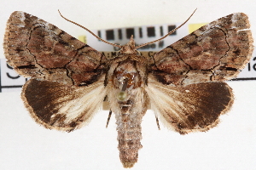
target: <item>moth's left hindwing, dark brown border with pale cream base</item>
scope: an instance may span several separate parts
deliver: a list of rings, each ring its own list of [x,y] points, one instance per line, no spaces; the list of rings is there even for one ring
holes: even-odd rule
[[[104,77],[89,86],[30,79],[21,97],[32,118],[46,128],[73,131],[90,122],[107,94]]]

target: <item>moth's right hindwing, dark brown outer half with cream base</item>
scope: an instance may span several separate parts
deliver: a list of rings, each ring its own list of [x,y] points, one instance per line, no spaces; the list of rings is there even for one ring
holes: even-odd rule
[[[207,131],[233,104],[232,89],[225,82],[200,82],[187,86],[164,85],[148,77],[146,92],[156,116],[171,129],[184,134]]]

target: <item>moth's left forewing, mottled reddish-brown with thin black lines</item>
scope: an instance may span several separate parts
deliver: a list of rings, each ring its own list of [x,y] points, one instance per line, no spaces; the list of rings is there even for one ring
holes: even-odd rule
[[[8,64],[25,77],[84,85],[105,69],[101,53],[24,12],[10,15],[3,48]]]

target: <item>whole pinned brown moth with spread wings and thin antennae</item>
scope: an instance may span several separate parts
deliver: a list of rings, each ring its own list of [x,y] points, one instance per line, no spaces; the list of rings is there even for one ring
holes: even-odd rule
[[[235,78],[252,56],[249,27],[246,14],[230,14],[152,57],[137,48],[153,42],[136,46],[133,37],[122,46],[108,42],[120,48],[108,59],[56,26],[16,11],[7,22],[3,48],[7,63],[31,77],[21,98],[35,122],[71,132],[88,124],[107,99],[120,161],[133,167],[148,105],[157,122],[181,134],[205,132],[230,111],[234,95],[224,81]]]

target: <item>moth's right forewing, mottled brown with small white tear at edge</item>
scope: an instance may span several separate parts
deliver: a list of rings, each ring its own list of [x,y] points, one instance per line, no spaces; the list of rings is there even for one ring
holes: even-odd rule
[[[223,82],[241,71],[252,57],[253,37],[246,14],[220,18],[157,54],[154,77],[164,84]]]

